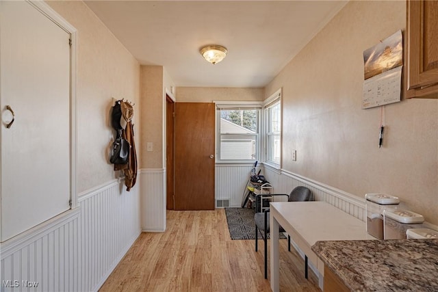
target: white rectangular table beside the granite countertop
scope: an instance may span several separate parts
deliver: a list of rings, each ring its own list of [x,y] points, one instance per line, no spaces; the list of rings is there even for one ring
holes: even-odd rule
[[[272,202],[270,204],[271,289],[280,289],[279,225],[284,228],[318,269],[322,289],[324,263],[311,250],[316,241],[375,239],[368,235],[365,222],[326,202]]]

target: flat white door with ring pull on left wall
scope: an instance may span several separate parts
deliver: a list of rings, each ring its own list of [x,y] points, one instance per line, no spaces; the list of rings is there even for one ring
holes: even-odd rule
[[[69,38],[30,3],[0,1],[2,242],[70,209]]]

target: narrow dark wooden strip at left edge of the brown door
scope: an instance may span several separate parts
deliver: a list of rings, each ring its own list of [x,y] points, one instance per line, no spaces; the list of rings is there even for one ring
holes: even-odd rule
[[[166,98],[166,209],[175,210],[175,102]]]

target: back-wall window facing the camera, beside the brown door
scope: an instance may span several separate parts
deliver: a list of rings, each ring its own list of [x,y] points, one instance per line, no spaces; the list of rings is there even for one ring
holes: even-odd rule
[[[218,161],[255,161],[259,159],[260,109],[218,105]]]

